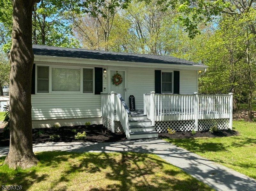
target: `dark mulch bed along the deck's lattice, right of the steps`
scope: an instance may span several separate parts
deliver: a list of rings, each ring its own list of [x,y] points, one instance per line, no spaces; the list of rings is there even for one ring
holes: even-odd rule
[[[223,129],[219,132],[209,133],[209,131],[197,131],[192,135],[191,131],[180,131],[170,135],[169,133],[160,133],[159,138],[183,139],[183,138],[196,138],[196,137],[224,137],[224,136],[237,136],[239,133],[234,130]]]

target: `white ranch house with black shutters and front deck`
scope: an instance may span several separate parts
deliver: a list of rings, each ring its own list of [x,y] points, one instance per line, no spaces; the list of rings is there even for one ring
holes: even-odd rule
[[[204,73],[206,65],[172,56],[41,45],[33,45],[33,52],[33,128],[90,121],[124,131],[128,139],[158,137],[167,127],[232,129],[232,94],[196,93],[198,71]],[[116,73],[121,84],[112,82]],[[129,108],[130,95],[135,111]]]

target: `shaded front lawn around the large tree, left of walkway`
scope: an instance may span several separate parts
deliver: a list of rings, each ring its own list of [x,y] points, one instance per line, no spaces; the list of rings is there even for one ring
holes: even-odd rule
[[[213,190],[153,154],[51,151],[36,157],[39,164],[28,170],[0,166],[0,185],[21,185],[22,190]]]

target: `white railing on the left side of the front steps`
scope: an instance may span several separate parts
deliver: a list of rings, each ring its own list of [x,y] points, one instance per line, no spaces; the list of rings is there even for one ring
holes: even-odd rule
[[[131,112],[125,104],[121,94],[117,94],[116,92],[111,92],[110,94],[101,92],[100,107],[101,116],[111,120],[111,131],[113,133],[115,132],[114,120],[116,111],[116,121],[120,121],[124,133],[127,139],[129,139],[128,117],[131,116]]]

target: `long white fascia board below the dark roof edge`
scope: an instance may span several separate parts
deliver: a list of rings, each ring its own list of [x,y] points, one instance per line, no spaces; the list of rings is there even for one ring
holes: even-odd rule
[[[69,58],[58,56],[42,56],[35,55],[34,62],[39,63],[59,63],[59,64],[75,64],[75,65],[100,65],[100,66],[116,66],[116,67],[138,67],[138,68],[172,68],[181,70],[204,70],[208,66],[200,65],[179,65],[179,64],[160,64],[160,63],[144,63],[144,62],[124,62],[112,60],[96,60],[86,58]]]

